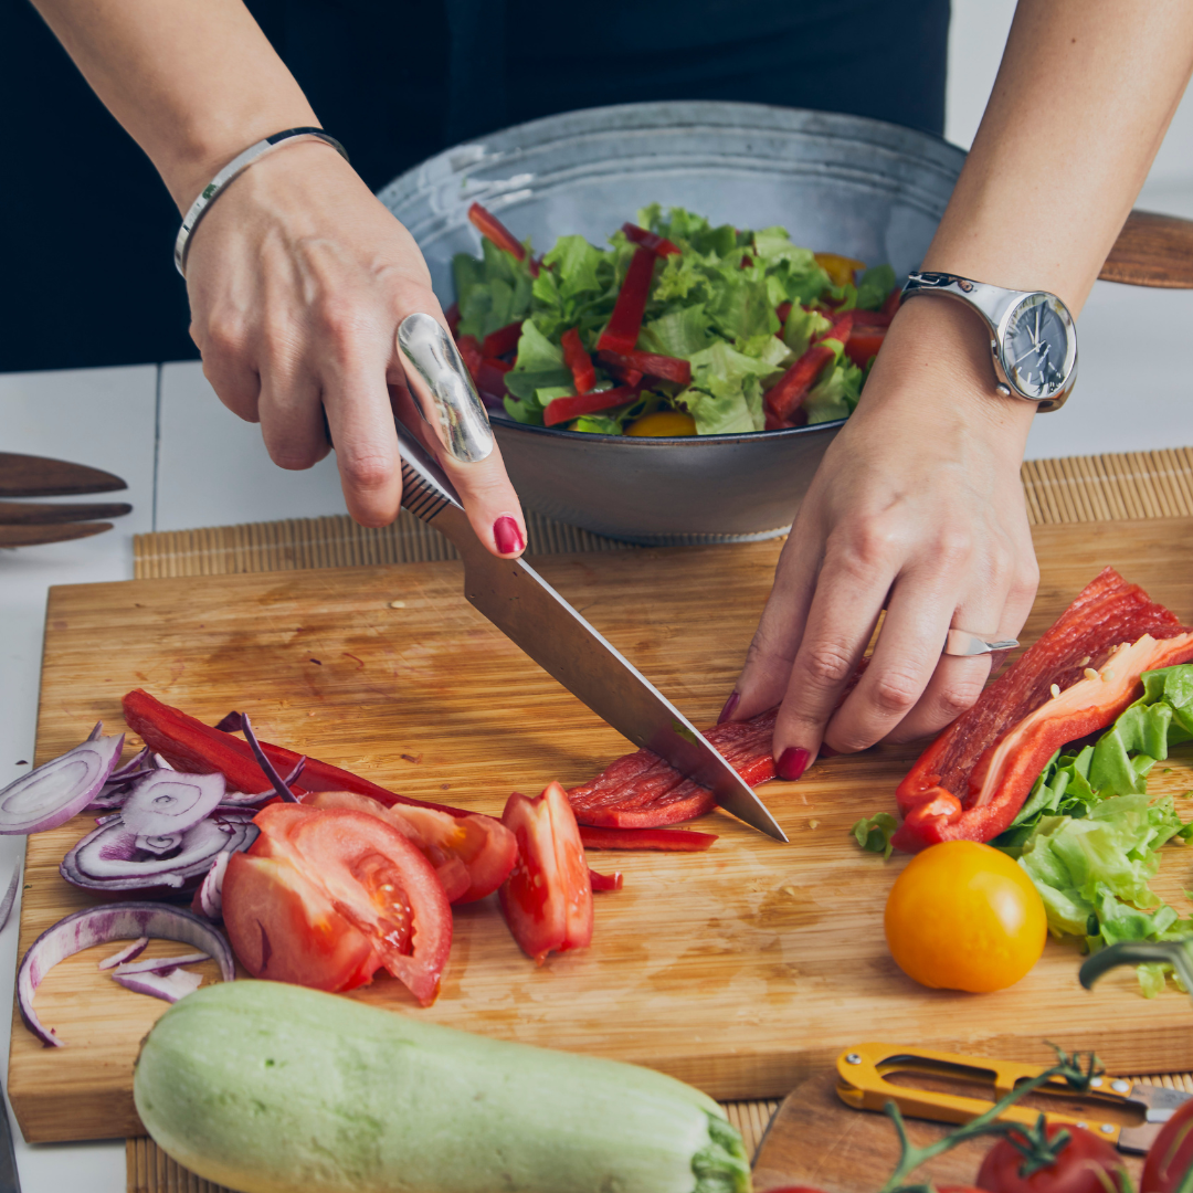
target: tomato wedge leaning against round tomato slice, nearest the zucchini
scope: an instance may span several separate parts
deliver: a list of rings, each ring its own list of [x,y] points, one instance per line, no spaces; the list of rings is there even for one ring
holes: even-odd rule
[[[223,880],[228,939],[253,977],[351,990],[381,968],[372,942],[286,861],[234,853]]]

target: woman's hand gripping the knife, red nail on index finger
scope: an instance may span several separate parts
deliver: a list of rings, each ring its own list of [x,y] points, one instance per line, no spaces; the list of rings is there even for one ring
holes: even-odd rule
[[[416,413],[397,326],[414,311],[444,322],[443,311],[410,234],[333,149],[288,146],[245,171],[196,229],[186,280],[203,371],[224,406],[261,424],[276,464],[310,468],[334,443],[348,512],[388,525],[402,493],[400,414],[481,540],[521,552],[525,523],[500,450],[457,463]]]

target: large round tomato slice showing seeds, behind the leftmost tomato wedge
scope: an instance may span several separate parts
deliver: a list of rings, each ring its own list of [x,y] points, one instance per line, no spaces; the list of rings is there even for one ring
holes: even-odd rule
[[[434,869],[412,841],[379,817],[346,808],[277,803],[262,808],[253,822],[261,835],[249,849],[251,858],[268,859],[278,869],[295,871],[299,877],[288,877],[288,892],[305,890],[299,880],[305,879],[321,896],[316,909],[330,905],[422,1006],[434,1002],[451,951],[451,908]],[[235,885],[230,892],[225,889],[225,897],[235,903]],[[225,922],[228,915],[225,902]],[[231,916],[237,922],[246,915],[233,907]],[[301,920],[296,908],[279,917],[283,931],[278,939],[270,935],[272,954],[289,953],[285,963],[279,959],[277,964],[299,975],[311,947],[309,937],[322,931],[319,916]],[[284,931],[288,923],[293,931]],[[237,940],[251,957],[260,952],[251,932],[233,938],[233,947],[237,947]],[[316,979],[321,976],[314,975]],[[315,984],[302,978],[299,982]]]

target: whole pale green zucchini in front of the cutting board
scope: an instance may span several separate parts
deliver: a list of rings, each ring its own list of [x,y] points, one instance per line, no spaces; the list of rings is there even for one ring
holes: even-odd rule
[[[149,1135],[243,1193],[748,1193],[741,1136],[661,1073],[279,982],[177,1002],[134,1081]]]

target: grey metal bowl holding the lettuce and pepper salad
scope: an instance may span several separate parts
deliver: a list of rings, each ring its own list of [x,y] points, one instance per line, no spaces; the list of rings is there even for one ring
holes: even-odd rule
[[[474,200],[539,251],[569,233],[604,243],[638,208],[661,203],[713,223],[781,224],[797,245],[889,261],[902,276],[919,265],[964,160],[928,134],[857,116],[626,104],[457,146],[379,197],[419,242],[446,305],[453,254],[480,252]],[[654,545],[783,533],[841,426],[637,439],[493,421],[528,508]]]

